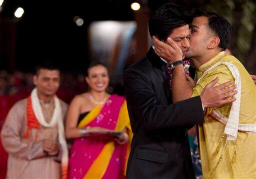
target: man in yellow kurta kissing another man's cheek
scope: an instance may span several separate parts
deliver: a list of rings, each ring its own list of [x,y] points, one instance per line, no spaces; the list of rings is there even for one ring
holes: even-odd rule
[[[172,97],[175,101],[200,95],[203,87],[218,78],[215,85],[233,81],[236,100],[216,108],[205,108],[198,126],[199,150],[204,178],[256,178],[256,87],[244,66],[224,50],[231,27],[217,13],[196,10],[190,26],[190,48],[186,57],[197,69],[195,82],[185,76],[182,65],[172,71]],[[155,46],[161,51],[178,51],[174,43]],[[174,50],[173,50],[174,49]],[[168,55],[161,54],[168,59]],[[223,94],[222,94],[223,95]],[[228,98],[226,93],[224,98]]]

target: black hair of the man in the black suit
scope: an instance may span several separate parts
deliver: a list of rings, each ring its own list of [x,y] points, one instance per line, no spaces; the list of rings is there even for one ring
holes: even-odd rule
[[[174,28],[189,25],[191,22],[192,18],[185,7],[165,3],[150,17],[148,22],[149,34],[151,37],[155,35],[160,40],[166,40]]]

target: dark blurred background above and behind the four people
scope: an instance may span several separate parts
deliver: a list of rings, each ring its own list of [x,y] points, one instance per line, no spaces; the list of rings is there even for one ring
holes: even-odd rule
[[[90,22],[141,23],[143,15],[148,18],[158,6],[170,1],[188,9],[204,7],[225,16],[233,27],[230,50],[250,72],[256,72],[255,0],[139,0],[139,12],[130,8],[132,0],[4,0],[0,12],[0,69],[28,72],[48,59],[62,70],[82,72],[90,61],[87,42]],[[16,18],[13,13],[19,6],[24,14]],[[83,18],[82,26],[75,24],[74,16]],[[144,53],[145,49],[139,50]]]

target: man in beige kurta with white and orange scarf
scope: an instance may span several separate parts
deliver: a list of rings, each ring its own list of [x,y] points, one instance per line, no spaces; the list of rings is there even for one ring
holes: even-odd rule
[[[31,95],[9,110],[1,130],[1,141],[8,152],[8,178],[60,178],[61,164],[66,175],[63,119],[67,104],[55,96],[59,80],[58,68],[38,67]],[[58,154],[61,164],[54,160]]]

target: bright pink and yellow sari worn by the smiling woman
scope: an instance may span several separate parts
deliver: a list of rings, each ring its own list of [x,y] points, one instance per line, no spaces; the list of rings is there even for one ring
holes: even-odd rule
[[[96,106],[78,124],[100,126],[130,132],[124,97],[111,95],[105,104]],[[130,136],[129,136],[130,137]],[[131,138],[131,137],[130,137]],[[69,152],[69,178],[124,178],[130,142],[120,145],[98,137],[76,138]]]

